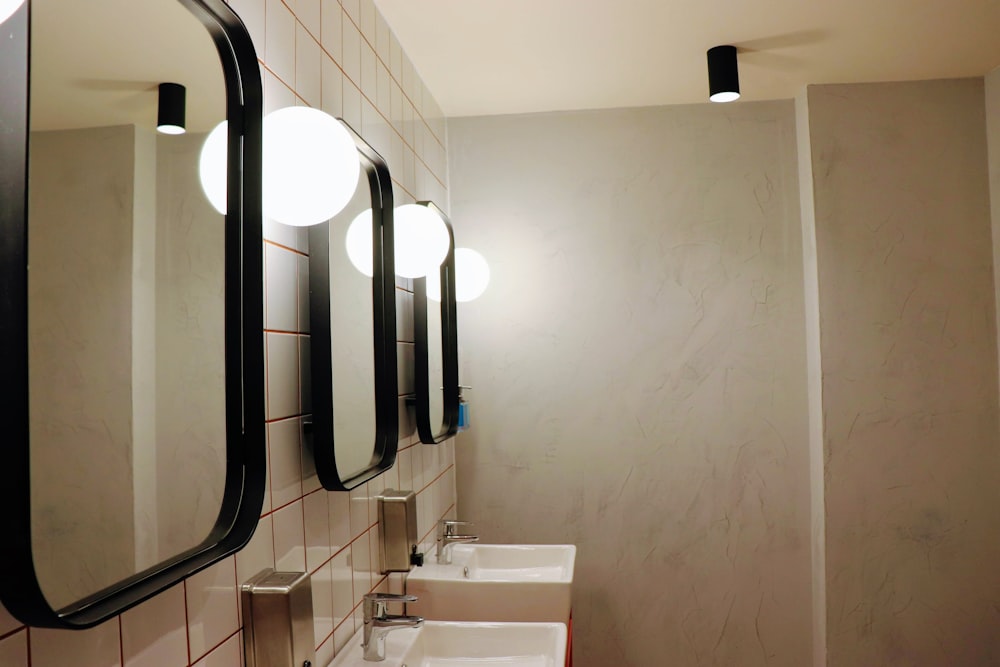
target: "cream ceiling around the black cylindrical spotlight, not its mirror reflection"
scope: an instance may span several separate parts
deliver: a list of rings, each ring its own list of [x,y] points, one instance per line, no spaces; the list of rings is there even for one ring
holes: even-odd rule
[[[1000,0],[375,3],[447,116],[706,102],[718,44],[747,100],[1000,66]]]

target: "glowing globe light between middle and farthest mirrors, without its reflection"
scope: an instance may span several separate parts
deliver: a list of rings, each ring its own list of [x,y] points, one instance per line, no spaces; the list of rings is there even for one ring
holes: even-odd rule
[[[396,275],[420,278],[438,270],[448,256],[448,228],[426,206],[404,204],[393,211]]]

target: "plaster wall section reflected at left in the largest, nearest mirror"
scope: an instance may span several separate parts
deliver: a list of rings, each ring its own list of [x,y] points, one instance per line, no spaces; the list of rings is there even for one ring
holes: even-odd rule
[[[134,164],[132,126],[31,135],[32,549],[56,607],[135,572]]]

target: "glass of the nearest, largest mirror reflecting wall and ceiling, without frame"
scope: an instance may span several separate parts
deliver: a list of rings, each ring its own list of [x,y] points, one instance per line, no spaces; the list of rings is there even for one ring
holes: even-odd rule
[[[198,546],[226,471],[219,56],[177,0],[31,1],[32,549],[55,608]],[[136,26],[155,26],[137,30]],[[156,132],[158,87],[186,129]]]

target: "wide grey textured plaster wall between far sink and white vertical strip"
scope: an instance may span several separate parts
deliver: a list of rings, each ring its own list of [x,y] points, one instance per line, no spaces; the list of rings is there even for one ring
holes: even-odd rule
[[[574,658],[811,656],[790,101],[449,120],[462,518],[578,545]]]

